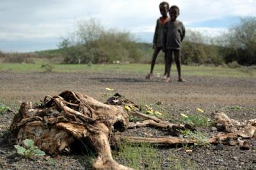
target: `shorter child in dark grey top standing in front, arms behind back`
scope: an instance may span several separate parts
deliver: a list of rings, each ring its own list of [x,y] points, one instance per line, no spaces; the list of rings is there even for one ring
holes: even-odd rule
[[[175,63],[179,74],[179,82],[184,80],[181,78],[180,73],[180,49],[181,42],[185,37],[185,27],[179,20],[176,20],[180,14],[178,6],[171,6],[169,10],[170,21],[164,26],[163,33],[163,51],[166,52],[166,70],[167,77],[164,79],[165,82],[170,81],[170,72],[172,66],[172,53],[175,56]]]

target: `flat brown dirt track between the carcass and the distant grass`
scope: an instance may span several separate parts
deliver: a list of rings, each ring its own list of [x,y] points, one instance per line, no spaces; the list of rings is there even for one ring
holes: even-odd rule
[[[125,73],[0,73],[0,100],[5,103],[38,101],[65,89],[79,91],[105,100],[107,87],[114,88],[134,102],[168,104],[233,104],[256,103],[256,79],[222,77],[185,77],[186,82],[151,81],[144,75]]]

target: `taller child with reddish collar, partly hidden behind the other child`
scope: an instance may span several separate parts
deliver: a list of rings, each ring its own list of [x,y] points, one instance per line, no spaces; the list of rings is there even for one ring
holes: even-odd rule
[[[154,49],[154,54],[152,56],[152,61],[151,61],[151,70],[150,73],[146,76],[146,79],[150,79],[153,76],[153,70],[154,66],[156,64],[156,58],[159,52],[162,49],[162,38],[163,38],[163,27],[164,24],[166,24],[170,18],[168,17],[168,10],[169,10],[169,4],[166,2],[162,2],[159,4],[159,10],[162,15],[159,19],[157,19],[156,22],[156,30],[154,34],[154,40],[153,40],[153,49]],[[166,60],[166,55],[164,54],[164,61]],[[164,75],[166,75],[166,66],[164,69]]]

